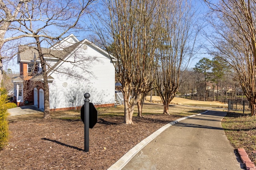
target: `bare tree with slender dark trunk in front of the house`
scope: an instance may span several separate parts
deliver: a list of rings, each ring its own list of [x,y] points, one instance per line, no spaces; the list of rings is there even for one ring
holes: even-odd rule
[[[8,26],[8,31],[12,35],[18,34],[15,39],[24,37],[32,38],[24,39],[24,41],[30,42],[30,45],[34,45],[38,52],[44,80],[45,119],[50,118],[48,87],[48,68],[50,67],[47,67],[44,55],[51,55],[51,53],[44,53],[42,46],[49,45],[54,40],[56,42],[69,31],[79,28],[78,21],[88,12],[88,6],[92,2],[93,0],[81,0],[79,2],[75,0],[29,0],[23,3],[19,9],[19,14],[13,16],[12,22]],[[5,7],[8,8],[8,6]],[[10,11],[12,10],[10,9]],[[12,40],[12,38],[6,38],[7,40]]]

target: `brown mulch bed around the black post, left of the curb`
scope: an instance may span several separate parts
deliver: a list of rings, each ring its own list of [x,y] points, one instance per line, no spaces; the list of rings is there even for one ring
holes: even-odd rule
[[[89,152],[84,152],[84,124],[80,120],[33,119],[9,123],[11,138],[0,150],[1,170],[108,169],[128,150],[160,127],[180,118],[175,115],[133,117],[99,116],[90,129]]]

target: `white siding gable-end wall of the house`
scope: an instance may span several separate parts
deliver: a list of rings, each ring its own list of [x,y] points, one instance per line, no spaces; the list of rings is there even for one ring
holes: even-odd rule
[[[114,103],[115,95],[115,69],[109,57],[92,49],[87,45],[86,51],[80,48],[78,52],[87,57],[96,57],[94,62],[87,63],[87,71],[93,76],[76,67],[76,72],[82,74],[88,80],[75,80],[66,74],[52,73],[54,81],[50,83],[50,109],[74,107],[70,102],[76,96],[76,106],[84,104],[84,93],[90,93],[90,102],[96,105]],[[77,53],[76,53],[77,54]],[[69,60],[72,61],[73,57]],[[59,69],[71,68],[69,62],[64,62]],[[65,83],[64,83],[65,82]],[[63,84],[64,83],[64,84]],[[65,87],[66,86],[66,87]]]

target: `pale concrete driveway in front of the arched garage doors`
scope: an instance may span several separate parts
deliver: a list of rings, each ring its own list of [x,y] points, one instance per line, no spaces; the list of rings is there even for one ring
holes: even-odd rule
[[[22,107],[15,107],[12,109],[7,110],[9,112],[9,116],[17,116],[17,115],[26,115],[26,114],[33,114],[33,113],[42,113],[43,109],[38,109],[34,105],[22,106]]]

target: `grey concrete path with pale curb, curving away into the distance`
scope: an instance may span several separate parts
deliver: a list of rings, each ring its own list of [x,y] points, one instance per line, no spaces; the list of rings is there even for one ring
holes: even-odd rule
[[[151,136],[151,142],[145,146],[134,146],[136,154],[127,153],[109,170],[243,169],[222,129],[221,120],[225,116],[226,112],[208,111],[176,121],[156,137]]]

